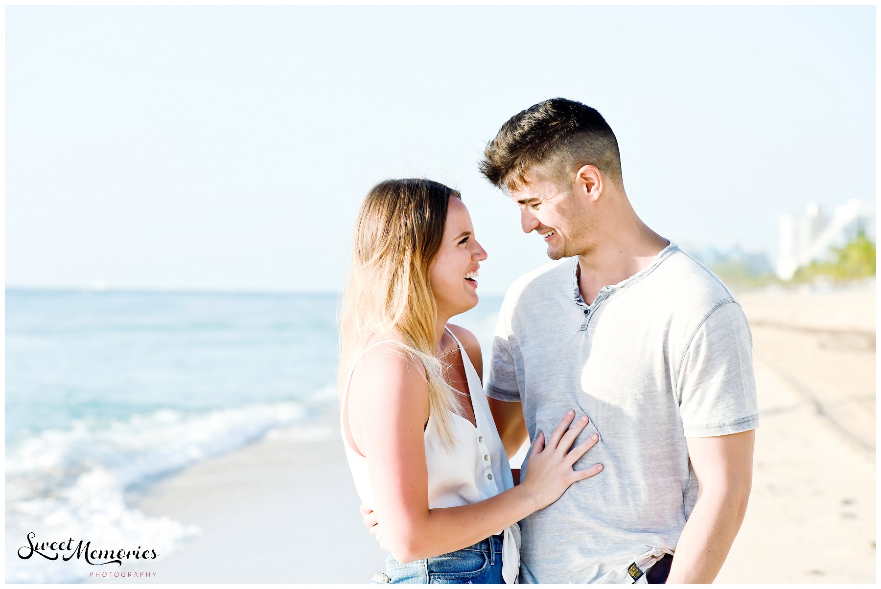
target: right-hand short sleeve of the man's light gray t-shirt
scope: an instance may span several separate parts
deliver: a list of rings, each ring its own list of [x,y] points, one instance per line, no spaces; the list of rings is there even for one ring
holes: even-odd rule
[[[736,301],[721,302],[707,314],[678,373],[686,437],[726,436],[759,426],[752,335]]]

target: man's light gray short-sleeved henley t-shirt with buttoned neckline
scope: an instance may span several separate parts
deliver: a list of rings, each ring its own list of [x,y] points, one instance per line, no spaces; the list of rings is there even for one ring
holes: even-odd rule
[[[576,444],[600,439],[575,468],[604,465],[522,520],[520,579],[645,583],[640,571],[676,549],[698,495],[685,437],[759,425],[752,335],[719,278],[673,243],[590,306],[577,266],[519,278],[492,346],[486,393],[522,401],[532,440],[567,409],[586,413]]]

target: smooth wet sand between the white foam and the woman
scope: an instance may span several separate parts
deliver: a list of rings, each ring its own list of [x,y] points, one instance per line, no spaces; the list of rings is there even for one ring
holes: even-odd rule
[[[384,571],[385,553],[361,524],[334,433],[330,424],[276,431],[132,494],[145,514],[195,525],[200,534],[129,569],[154,577],[126,582],[361,584]]]

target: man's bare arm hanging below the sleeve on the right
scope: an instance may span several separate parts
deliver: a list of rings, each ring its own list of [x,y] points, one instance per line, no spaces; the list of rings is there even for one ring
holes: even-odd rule
[[[699,492],[679,536],[668,584],[712,583],[722,569],[750,497],[755,433],[685,438]]]

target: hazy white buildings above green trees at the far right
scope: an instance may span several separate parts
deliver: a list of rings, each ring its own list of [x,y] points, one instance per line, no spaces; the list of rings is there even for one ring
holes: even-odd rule
[[[837,208],[831,218],[813,202],[803,217],[783,215],[777,276],[792,278],[797,269],[825,260],[831,248],[843,247],[861,231],[875,241],[875,209],[856,199]]]

